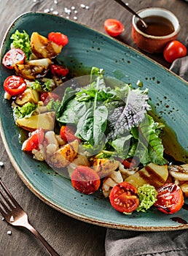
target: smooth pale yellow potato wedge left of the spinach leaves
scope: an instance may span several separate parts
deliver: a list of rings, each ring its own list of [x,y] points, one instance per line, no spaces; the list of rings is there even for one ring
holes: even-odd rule
[[[44,130],[54,129],[55,112],[47,112],[39,115],[31,116],[29,118],[18,118],[16,124],[27,131],[34,131],[39,127]]]

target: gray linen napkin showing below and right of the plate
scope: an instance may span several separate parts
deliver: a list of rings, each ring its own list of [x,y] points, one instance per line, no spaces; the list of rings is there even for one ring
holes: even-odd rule
[[[173,61],[171,71],[188,81],[188,56]],[[105,252],[106,256],[188,256],[188,230],[138,232],[107,229]]]

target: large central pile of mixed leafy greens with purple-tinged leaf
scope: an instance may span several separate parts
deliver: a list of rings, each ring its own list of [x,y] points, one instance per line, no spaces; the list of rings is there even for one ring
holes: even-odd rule
[[[163,165],[161,127],[148,114],[148,99],[147,90],[111,82],[103,69],[94,67],[87,86],[66,88],[57,120],[77,127],[75,135],[90,154],[105,151],[108,157],[138,157],[143,165]]]

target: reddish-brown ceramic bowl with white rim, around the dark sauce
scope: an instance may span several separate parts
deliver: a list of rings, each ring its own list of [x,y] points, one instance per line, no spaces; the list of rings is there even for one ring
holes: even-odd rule
[[[146,8],[137,13],[143,19],[149,16],[160,16],[162,18],[167,18],[172,23],[174,31],[171,34],[154,36],[146,34],[144,31],[141,31],[141,29],[138,29],[138,18],[136,18],[135,15],[133,16],[132,37],[138,48],[148,53],[162,53],[167,42],[176,39],[179,34],[180,25],[178,18],[176,18],[176,16],[169,10],[158,7]]]

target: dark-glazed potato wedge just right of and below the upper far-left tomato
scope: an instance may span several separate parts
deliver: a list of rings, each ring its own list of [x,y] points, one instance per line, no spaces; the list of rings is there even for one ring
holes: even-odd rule
[[[15,72],[28,80],[40,79],[47,74],[51,63],[50,59],[42,59],[28,61],[26,64],[15,64]]]

